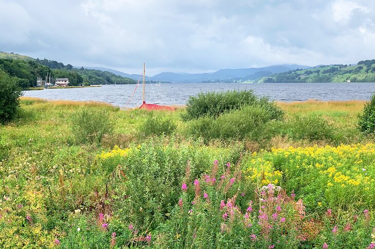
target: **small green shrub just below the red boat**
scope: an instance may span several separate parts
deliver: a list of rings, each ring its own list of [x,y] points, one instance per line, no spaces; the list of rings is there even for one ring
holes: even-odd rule
[[[140,135],[145,137],[171,135],[175,132],[176,127],[171,118],[163,118],[159,113],[156,115],[154,112],[149,112],[146,121],[140,127]]]

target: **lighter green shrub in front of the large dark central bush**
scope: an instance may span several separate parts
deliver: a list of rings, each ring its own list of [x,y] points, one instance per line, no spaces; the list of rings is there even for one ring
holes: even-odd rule
[[[247,106],[221,114],[216,119],[207,115],[193,120],[189,132],[205,142],[212,139],[260,141],[270,135],[265,131],[271,116],[263,107]]]

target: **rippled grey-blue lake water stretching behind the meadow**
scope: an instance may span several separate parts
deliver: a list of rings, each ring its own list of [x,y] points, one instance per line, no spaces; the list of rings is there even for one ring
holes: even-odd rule
[[[138,86],[132,101],[135,85],[104,85],[92,88],[45,89],[26,91],[24,96],[46,99],[102,101],[119,107],[136,107],[142,104],[142,85]],[[206,91],[253,89],[259,96],[280,101],[318,100],[369,100],[375,83],[268,83],[268,84],[154,84],[146,85],[146,102],[161,105],[184,105],[189,96]]]

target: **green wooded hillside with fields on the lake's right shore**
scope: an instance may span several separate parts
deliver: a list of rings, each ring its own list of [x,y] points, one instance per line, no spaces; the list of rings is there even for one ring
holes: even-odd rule
[[[375,82],[375,60],[362,60],[358,65],[296,69],[258,78],[254,82]]]

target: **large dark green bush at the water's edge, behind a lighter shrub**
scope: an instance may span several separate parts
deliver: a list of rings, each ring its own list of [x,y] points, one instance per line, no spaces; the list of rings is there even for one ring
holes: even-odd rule
[[[186,102],[186,113],[182,114],[184,121],[197,119],[202,116],[218,117],[224,112],[240,109],[243,106],[261,106],[268,110],[271,119],[281,119],[283,111],[275,102],[269,102],[267,97],[258,98],[252,90],[206,92],[190,96]]]

